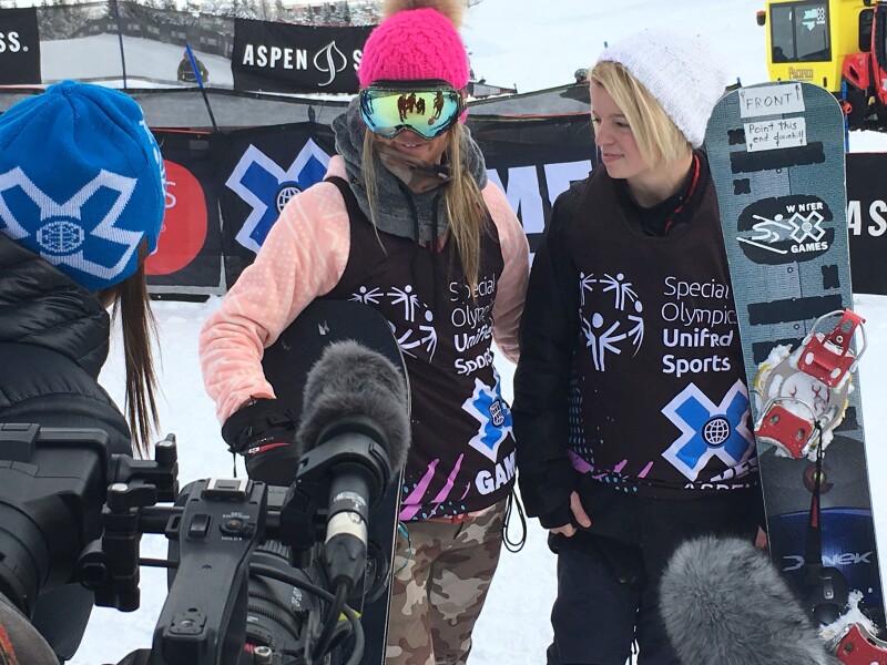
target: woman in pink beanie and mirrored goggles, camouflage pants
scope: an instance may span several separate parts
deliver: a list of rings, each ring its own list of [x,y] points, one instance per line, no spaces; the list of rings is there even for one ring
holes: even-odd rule
[[[492,341],[517,360],[528,244],[462,124],[461,0],[387,0],[360,93],[333,123],[326,181],[293,197],[201,335],[223,437],[251,475],[288,484],[293,423],[263,349],[315,298],[389,321],[411,386],[387,662],[463,663],[514,483]],[[264,459],[263,459],[264,458]]]

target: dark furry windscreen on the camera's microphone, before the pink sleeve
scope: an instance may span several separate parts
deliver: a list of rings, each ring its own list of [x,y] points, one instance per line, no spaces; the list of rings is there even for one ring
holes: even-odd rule
[[[374,420],[387,438],[377,443],[385,446],[391,468],[404,468],[410,443],[406,380],[388,358],[350,340],[326,347],[308,372],[298,444],[312,450],[323,430],[344,416]]]

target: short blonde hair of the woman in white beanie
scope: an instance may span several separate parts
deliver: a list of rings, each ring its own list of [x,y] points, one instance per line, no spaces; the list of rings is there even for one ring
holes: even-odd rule
[[[693,151],[656,99],[622,64],[599,62],[589,72],[589,81],[591,85],[603,88],[620,108],[648,166],[654,166],[660,160],[680,160]]]

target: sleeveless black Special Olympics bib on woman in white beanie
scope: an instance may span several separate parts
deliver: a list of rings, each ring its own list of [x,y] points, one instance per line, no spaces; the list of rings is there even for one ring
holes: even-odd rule
[[[705,172],[707,174],[707,170]],[[748,393],[714,188],[692,216],[651,236],[618,205],[601,170],[567,246],[578,269],[579,331],[570,431],[573,467],[616,489],[746,484],[754,458]]]

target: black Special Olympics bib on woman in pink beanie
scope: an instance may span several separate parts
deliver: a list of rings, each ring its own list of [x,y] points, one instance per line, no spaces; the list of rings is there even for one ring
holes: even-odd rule
[[[412,443],[401,520],[461,514],[504,499],[513,485],[511,411],[493,368],[492,307],[504,263],[496,225],[481,235],[477,288],[456,243],[439,250],[378,231],[344,181],[350,250],[328,298],[359,300],[388,320],[412,395]]]

